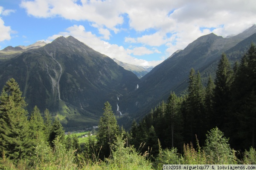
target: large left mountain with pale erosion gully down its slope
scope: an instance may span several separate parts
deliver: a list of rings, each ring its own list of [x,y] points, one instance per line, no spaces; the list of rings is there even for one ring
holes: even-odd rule
[[[58,37],[0,63],[0,88],[15,78],[31,110],[48,108],[64,127],[97,125],[104,103],[116,110],[118,100],[137,87],[134,73],[74,37]],[[119,112],[118,112],[119,114]]]

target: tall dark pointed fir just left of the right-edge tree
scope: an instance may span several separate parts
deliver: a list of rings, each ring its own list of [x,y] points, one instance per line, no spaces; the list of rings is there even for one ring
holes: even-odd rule
[[[214,89],[214,115],[212,121],[220,129],[224,128],[224,122],[228,119],[228,106],[231,100],[230,90],[233,83],[233,69],[225,54],[221,55],[218,63]]]

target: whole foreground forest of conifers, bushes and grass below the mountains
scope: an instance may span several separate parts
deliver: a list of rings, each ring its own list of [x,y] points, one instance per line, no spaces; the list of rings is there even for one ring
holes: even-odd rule
[[[256,164],[256,46],[232,67],[221,55],[215,79],[191,69],[186,95],[170,92],[126,132],[109,102],[97,140],[65,137],[58,119],[29,113],[15,79],[0,95],[0,169],[163,169],[163,164]]]

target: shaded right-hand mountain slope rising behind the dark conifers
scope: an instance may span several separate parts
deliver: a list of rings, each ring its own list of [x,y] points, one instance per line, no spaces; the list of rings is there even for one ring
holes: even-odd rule
[[[227,53],[231,62],[239,60],[251,42],[256,43],[256,25],[239,35],[223,38],[213,33],[199,37],[185,49],[155,66],[140,79],[139,88],[120,103],[134,118],[148,113],[162,100],[166,101],[171,91],[182,94],[188,85],[189,71],[201,72],[203,82],[207,76],[215,77],[221,53]]]

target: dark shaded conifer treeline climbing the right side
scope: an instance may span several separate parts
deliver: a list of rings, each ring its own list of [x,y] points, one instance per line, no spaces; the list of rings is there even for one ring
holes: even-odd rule
[[[222,54],[215,80],[208,78],[207,86],[201,82],[199,72],[191,69],[187,95],[177,97],[171,92],[131,127],[132,144],[159,138],[163,148],[183,150],[184,143],[205,144],[207,132],[218,127],[230,138],[231,147],[244,151],[255,148],[256,141],[256,47],[251,44],[247,53],[233,68]],[[146,142],[147,143],[147,142]],[[151,147],[157,149],[157,141]],[[153,150],[154,151],[154,150]],[[154,151],[155,152],[155,151]],[[158,151],[157,151],[158,152]]]

